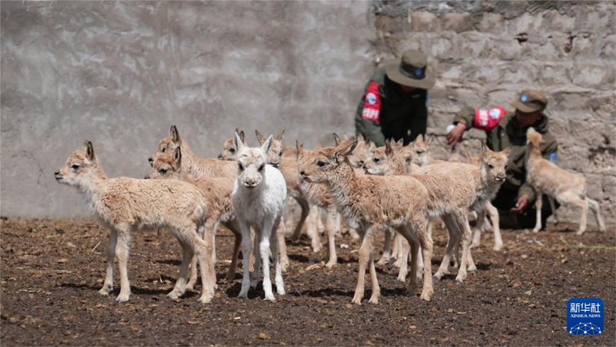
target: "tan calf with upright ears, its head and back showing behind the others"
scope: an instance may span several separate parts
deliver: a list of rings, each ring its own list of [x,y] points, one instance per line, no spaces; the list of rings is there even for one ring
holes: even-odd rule
[[[149,157],[148,161],[150,164],[154,163],[156,156],[164,154],[165,152],[173,153],[176,148],[181,147],[182,169],[190,178],[234,178],[237,175],[237,164],[234,162],[218,159],[201,159],[190,150],[186,141],[180,137],[178,128],[175,125],[171,125],[169,132],[169,136],[159,142],[158,152],[152,157]]]

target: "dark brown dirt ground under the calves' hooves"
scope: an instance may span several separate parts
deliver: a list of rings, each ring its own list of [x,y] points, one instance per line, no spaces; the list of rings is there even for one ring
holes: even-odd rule
[[[503,230],[505,246],[493,251],[485,233],[474,249],[478,271],[464,284],[455,275],[435,281],[431,302],[407,295],[393,266],[378,268],[382,297],[351,305],[358,270],[358,242],[337,239],[340,265],[324,268],[325,251],[309,241],[288,244],[291,266],[284,275],[287,295],[262,300],[261,284],[248,300],[236,295],[236,278],[225,281],[233,238],[217,238],[219,288],[211,304],[197,292],[170,300],[180,264],[171,234],[137,232],[129,263],[130,301],[98,295],[105,271],[108,231],[91,220],[2,218],[2,346],[408,346],[515,345],[614,346],[616,341],[616,232],[592,230],[578,237],[576,225],[547,232]],[[382,249],[382,237],[376,250]],[[435,231],[433,269],[440,263],[445,232]],[[316,264],[316,266],[314,266]],[[117,269],[117,267],[116,267]],[[450,273],[455,273],[451,268]],[[198,286],[197,290],[200,290]],[[566,303],[571,297],[605,302],[605,333],[571,336]]]

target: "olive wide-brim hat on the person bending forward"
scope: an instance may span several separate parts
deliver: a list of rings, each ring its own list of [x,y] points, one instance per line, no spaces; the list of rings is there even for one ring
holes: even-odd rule
[[[419,89],[430,89],[436,82],[428,70],[428,57],[417,50],[407,50],[400,62],[387,64],[385,73],[397,84]]]

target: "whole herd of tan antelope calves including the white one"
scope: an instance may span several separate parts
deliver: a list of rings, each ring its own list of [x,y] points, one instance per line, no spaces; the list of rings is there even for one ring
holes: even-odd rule
[[[348,224],[350,234],[362,239],[353,297],[353,303],[358,305],[364,296],[366,268],[372,283],[369,302],[377,303],[380,298],[372,255],[377,234],[385,235],[378,263],[396,258],[400,268],[398,279],[404,282],[410,258],[407,291],[414,294],[423,274],[421,299],[426,301],[434,292],[432,278],[442,278],[452,258],[458,263],[460,245],[462,255],[456,280],[462,282],[467,271],[476,270],[471,249],[479,246],[481,229],[490,225],[486,215],[491,217],[494,249],[503,246],[498,211],[490,200],[505,181],[508,149],[492,152],[483,145],[481,157],[469,157],[469,163],[462,163],[431,159],[428,152],[431,139],[424,141],[421,135],[408,146],[392,141],[376,148],[361,137],[342,138],[334,134],[336,147],[313,150],[304,149],[297,141],[295,148],[283,147],[284,130],[275,137],[264,137],[258,131],[256,135],[260,146],[249,147],[244,142],[244,132],[236,130],[234,137],[224,143],[217,159],[200,159],[172,125],[169,137],[161,140],[156,154],[149,158],[152,169],[146,178],[150,179],[108,178],[90,141],[69,156],[66,164],[55,172],[56,180],[84,193],[90,210],[103,227],[110,229],[105,282],[99,290],[102,295],[109,295],[113,290],[113,266],[117,257],[120,268],[117,301],[129,300],[130,233],[142,227],[169,229],[181,244],[181,268],[168,296],[176,299],[193,290],[197,268],[200,268],[199,301],[203,303],[212,300],[217,288],[215,234],[219,224],[235,236],[228,279],[234,278],[240,246],[244,255],[238,297],[246,298],[249,289],[256,288],[262,264],[266,300],[275,300],[270,256],[276,291],[278,295],[285,294],[283,271],[289,265],[285,229],[293,229],[290,239],[297,239],[307,222],[312,249],[319,251],[319,211],[327,215],[323,225],[328,245],[326,266],[335,266],[337,262],[335,237],[341,229],[341,217]],[[598,203],[586,197],[584,179],[542,159],[538,149],[541,141],[541,135],[530,128],[528,181],[539,193],[549,195],[552,205],[556,198],[561,203],[582,207],[578,234],[586,229],[589,207],[595,212],[600,230],[605,230]],[[301,209],[295,228],[292,208],[297,205],[287,204],[290,198]],[[540,213],[540,205],[537,207]],[[469,213],[477,215],[473,238]],[[433,274],[431,234],[435,217],[447,227],[449,239],[443,261]],[[540,215],[537,220],[541,220]],[[537,224],[534,231],[539,229]]]

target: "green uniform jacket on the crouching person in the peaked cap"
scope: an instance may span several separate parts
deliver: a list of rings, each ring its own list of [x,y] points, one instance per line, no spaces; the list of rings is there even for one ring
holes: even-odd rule
[[[462,108],[454,118],[454,124],[464,123],[467,130],[473,126],[475,110],[469,107]],[[548,118],[544,115],[537,124],[532,127],[543,136],[544,144],[541,145],[541,153],[545,159],[555,161],[558,150],[556,137],[547,129]],[[486,145],[493,151],[502,151],[507,146],[509,149],[509,165],[507,178],[501,189],[518,190],[518,198],[526,195],[529,205],[535,202],[535,189],[526,183],[526,130],[518,126],[515,113],[507,112],[500,122],[490,131],[486,131]]]

